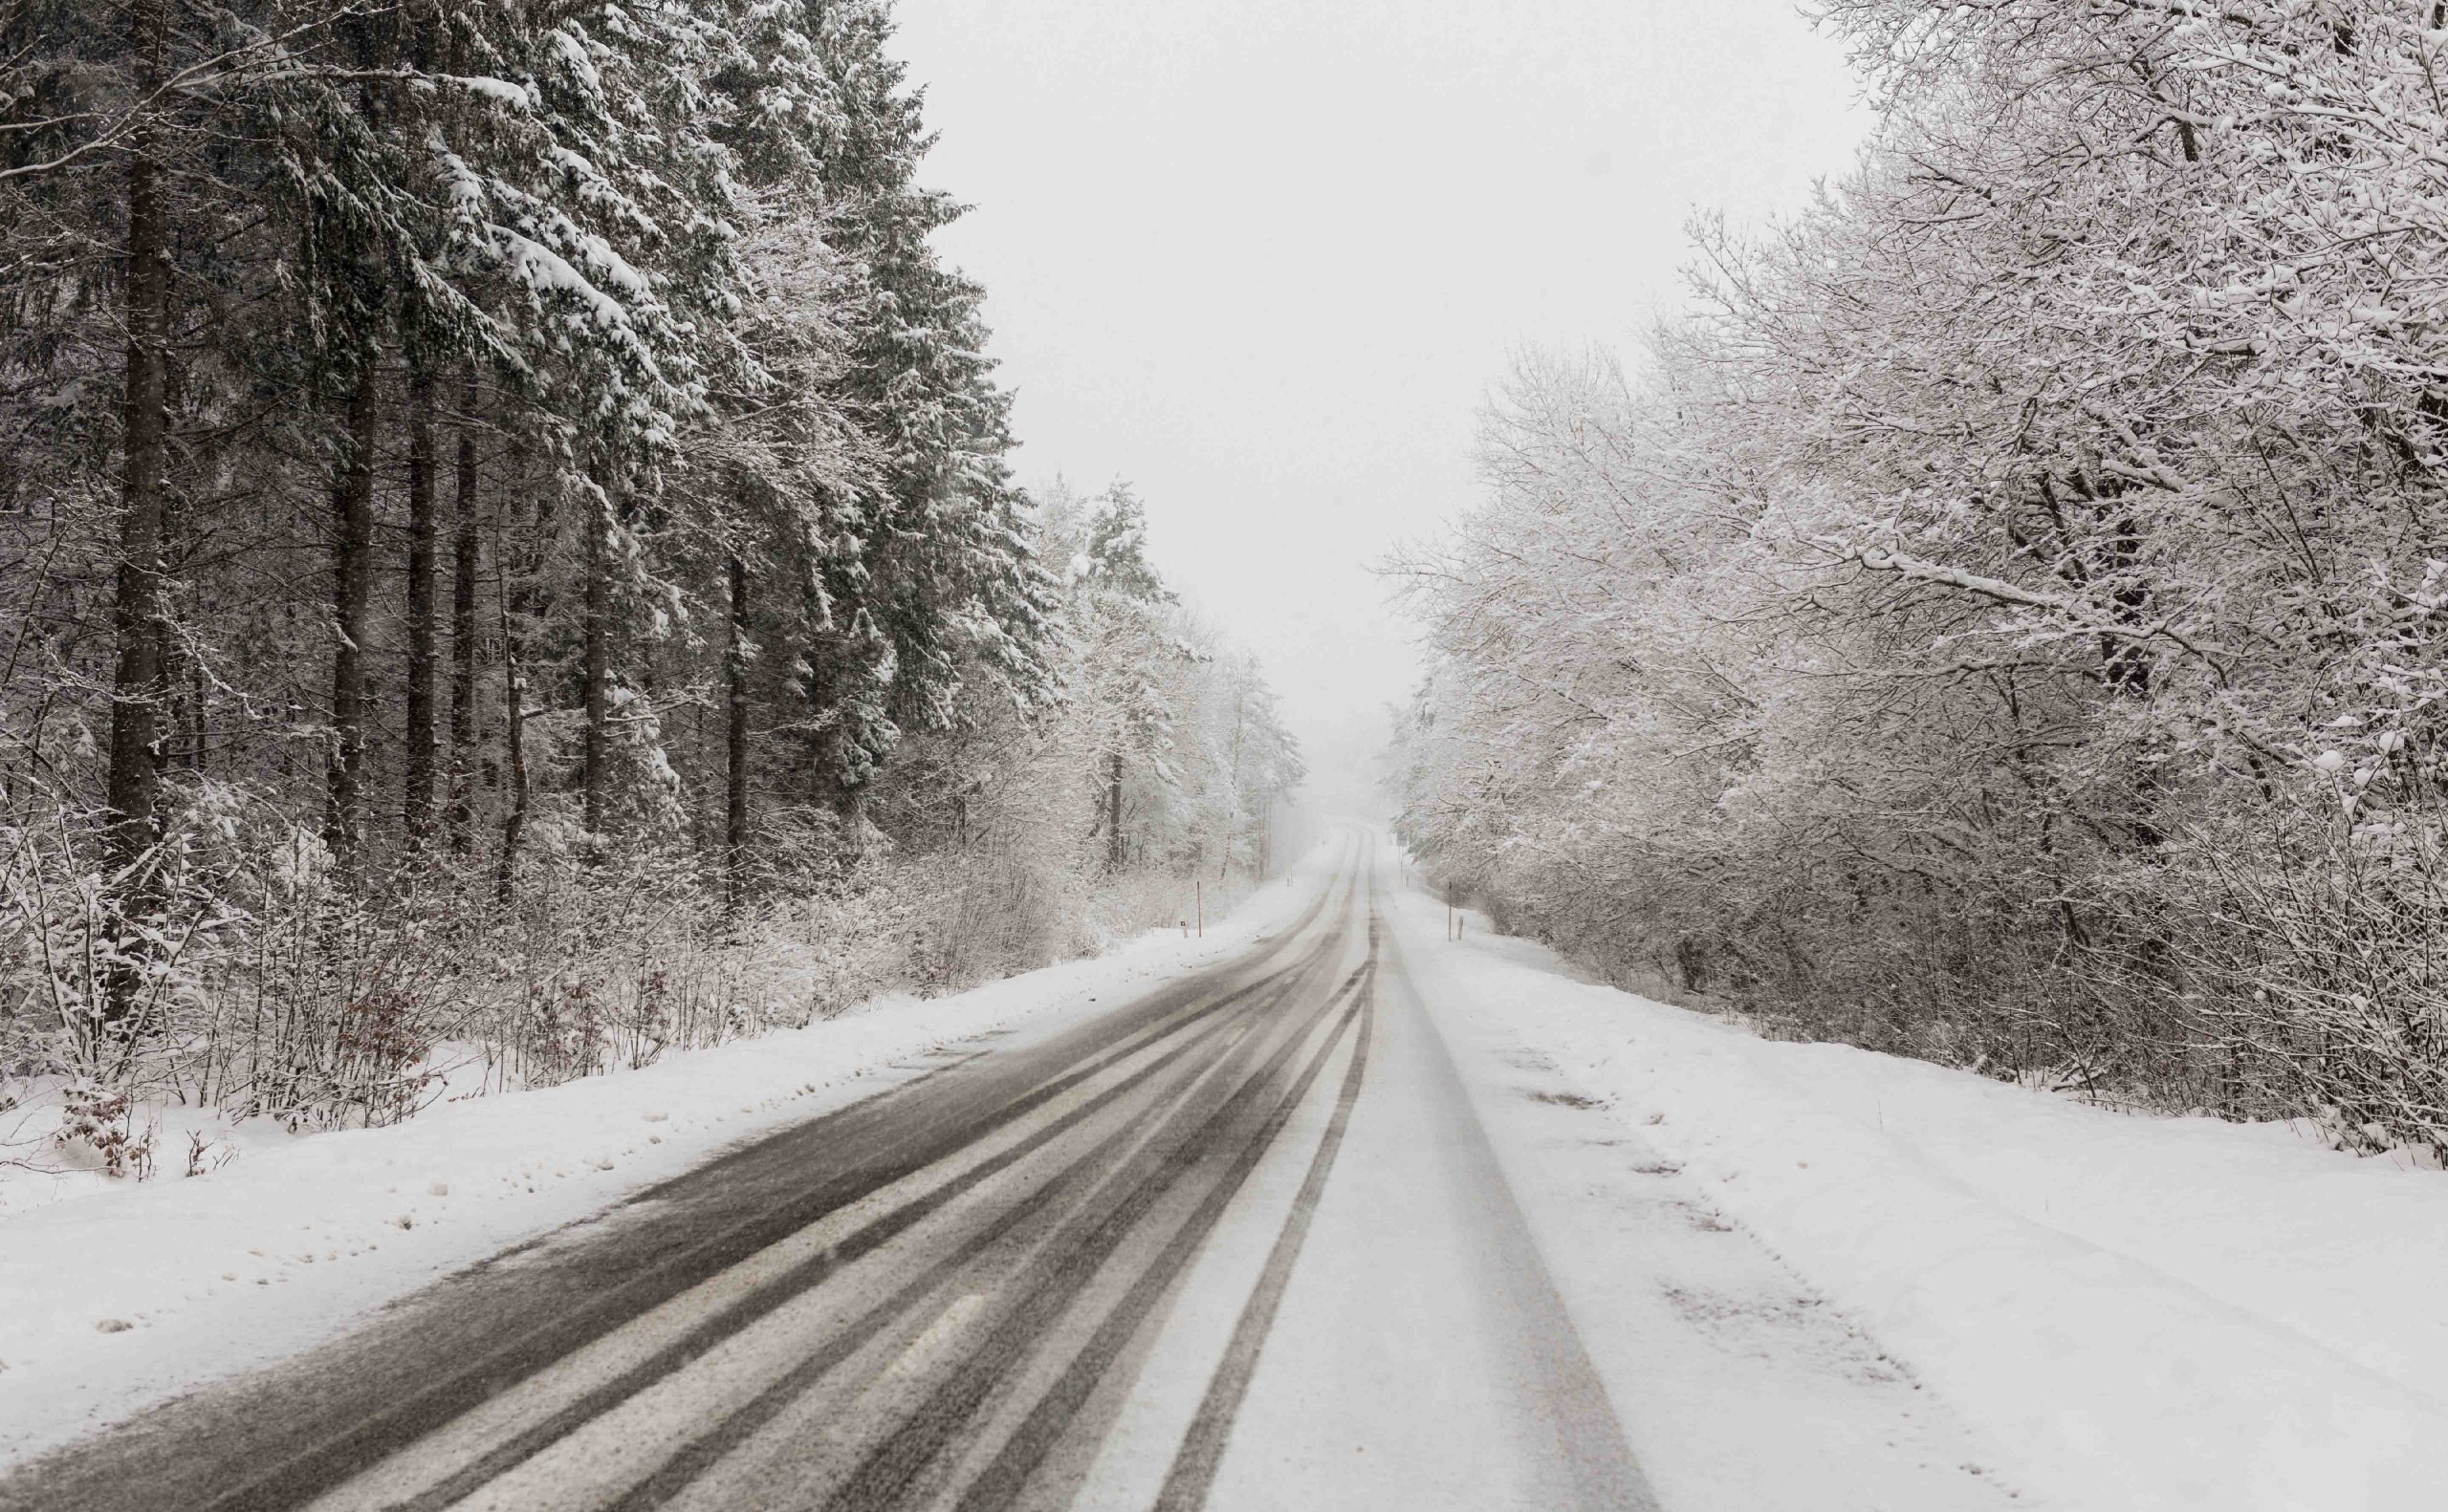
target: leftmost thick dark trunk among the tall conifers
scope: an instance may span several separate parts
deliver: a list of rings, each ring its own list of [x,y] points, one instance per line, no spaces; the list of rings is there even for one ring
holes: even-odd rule
[[[137,0],[130,17],[137,95],[162,83],[169,49],[166,0]],[[144,913],[149,886],[137,878],[159,834],[159,773],[154,719],[162,702],[162,472],[169,443],[169,235],[154,132],[140,122],[127,152],[127,394],[125,467],[120,472],[120,565],[110,621],[118,665],[110,685],[110,829],[108,861],[120,908]],[[118,1028],[135,1008],[140,981],[113,971],[105,1023]]]

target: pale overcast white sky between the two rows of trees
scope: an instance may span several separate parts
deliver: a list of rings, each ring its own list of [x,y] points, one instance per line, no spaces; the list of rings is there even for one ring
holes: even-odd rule
[[[1792,0],[903,0],[901,54],[1021,477],[1138,484],[1344,807],[1417,665],[1371,563],[1471,502],[1508,352],[1623,345],[1692,210],[1865,127]]]

